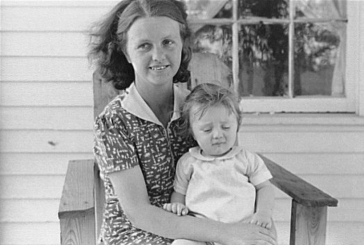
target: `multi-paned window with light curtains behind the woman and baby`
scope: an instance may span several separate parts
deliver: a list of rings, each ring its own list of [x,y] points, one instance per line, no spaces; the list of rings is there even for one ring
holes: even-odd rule
[[[350,1],[183,1],[194,56],[218,58],[244,112],[356,111],[358,67],[347,64],[359,46],[347,37],[359,14]]]

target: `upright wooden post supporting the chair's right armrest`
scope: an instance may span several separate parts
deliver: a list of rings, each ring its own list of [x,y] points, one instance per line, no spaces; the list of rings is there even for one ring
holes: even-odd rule
[[[324,245],[327,206],[309,207],[292,201],[290,245]]]

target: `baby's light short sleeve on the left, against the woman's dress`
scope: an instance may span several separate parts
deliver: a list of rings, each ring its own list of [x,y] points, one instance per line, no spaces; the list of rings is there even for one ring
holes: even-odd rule
[[[193,167],[189,161],[190,154],[185,153],[182,158],[178,160],[177,167],[175,169],[175,180],[173,183],[175,192],[186,195],[187,187],[189,185],[189,180],[191,179],[191,174]]]

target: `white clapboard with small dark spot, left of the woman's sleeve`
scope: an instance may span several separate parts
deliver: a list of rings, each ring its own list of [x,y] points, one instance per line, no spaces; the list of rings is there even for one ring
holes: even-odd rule
[[[0,152],[92,153],[93,142],[92,130],[6,130],[1,133]]]

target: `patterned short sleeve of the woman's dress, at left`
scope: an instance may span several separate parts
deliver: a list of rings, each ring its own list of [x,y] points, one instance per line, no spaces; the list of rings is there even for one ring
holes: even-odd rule
[[[139,164],[132,135],[120,115],[97,117],[94,133],[94,155],[101,173],[110,174]]]

